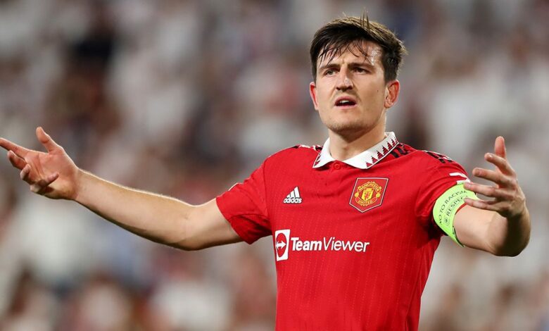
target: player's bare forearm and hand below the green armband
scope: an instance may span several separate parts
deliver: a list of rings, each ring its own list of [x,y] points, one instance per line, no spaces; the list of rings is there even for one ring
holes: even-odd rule
[[[495,185],[466,182],[464,187],[493,199],[465,199],[467,206],[455,215],[455,233],[465,246],[498,256],[517,256],[530,239],[530,215],[517,174],[507,161],[503,137],[496,139],[494,153],[484,158],[496,169],[474,168],[473,175]]]

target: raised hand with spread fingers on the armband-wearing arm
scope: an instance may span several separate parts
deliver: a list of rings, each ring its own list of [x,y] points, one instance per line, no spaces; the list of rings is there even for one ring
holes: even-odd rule
[[[464,183],[464,187],[472,192],[489,196],[493,200],[465,199],[465,204],[488,211],[496,211],[507,219],[522,217],[524,213],[527,213],[526,198],[519,186],[515,170],[511,168],[511,165],[507,161],[505,140],[503,137],[496,138],[494,153],[486,153],[484,158],[486,161],[496,165],[496,169],[474,168],[473,175],[494,182],[496,185],[490,186],[466,182]]]

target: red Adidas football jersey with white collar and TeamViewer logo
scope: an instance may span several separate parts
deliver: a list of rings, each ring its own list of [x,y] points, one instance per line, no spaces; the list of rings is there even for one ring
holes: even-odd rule
[[[277,330],[417,330],[443,235],[432,209],[466,176],[389,132],[344,162],[329,141],[280,151],[217,206],[249,244],[273,236]]]

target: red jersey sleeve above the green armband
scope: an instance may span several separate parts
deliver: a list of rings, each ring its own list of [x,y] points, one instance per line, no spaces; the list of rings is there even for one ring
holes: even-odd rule
[[[444,232],[436,225],[432,214],[436,200],[451,187],[469,181],[469,177],[465,169],[450,158],[432,152],[428,152],[428,154],[436,158],[438,162],[431,162],[431,165],[424,171],[417,196],[416,215],[428,219],[443,234]]]

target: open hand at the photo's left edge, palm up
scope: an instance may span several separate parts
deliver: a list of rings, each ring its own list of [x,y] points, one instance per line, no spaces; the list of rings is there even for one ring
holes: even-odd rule
[[[0,146],[8,150],[8,160],[20,170],[21,179],[30,185],[32,192],[51,199],[75,199],[80,170],[42,127],[37,127],[36,136],[46,147],[46,153],[26,149],[4,138],[0,138]]]

